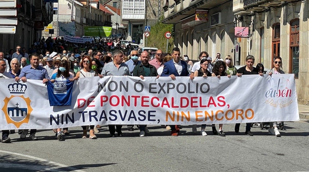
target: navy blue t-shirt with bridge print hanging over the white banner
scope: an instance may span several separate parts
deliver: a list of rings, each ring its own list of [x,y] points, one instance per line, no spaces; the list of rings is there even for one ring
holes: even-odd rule
[[[47,92],[50,106],[71,106],[74,81],[47,82]]]

